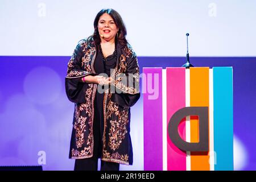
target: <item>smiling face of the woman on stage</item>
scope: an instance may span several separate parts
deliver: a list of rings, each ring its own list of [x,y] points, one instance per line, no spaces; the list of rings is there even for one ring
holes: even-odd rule
[[[118,28],[109,14],[104,13],[100,16],[98,20],[98,32],[100,33],[101,40],[110,41],[115,39]]]

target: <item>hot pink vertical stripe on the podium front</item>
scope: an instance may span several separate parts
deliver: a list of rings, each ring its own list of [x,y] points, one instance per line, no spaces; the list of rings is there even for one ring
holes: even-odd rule
[[[185,107],[185,68],[166,68],[167,76],[167,129],[172,115]],[[185,140],[185,119],[179,125],[179,134]],[[167,170],[185,171],[186,153],[177,148],[168,137]]]

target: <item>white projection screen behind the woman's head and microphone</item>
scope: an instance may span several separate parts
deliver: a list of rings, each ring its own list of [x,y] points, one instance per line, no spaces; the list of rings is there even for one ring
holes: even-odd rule
[[[138,56],[185,56],[187,32],[191,56],[256,55],[251,0],[0,2],[0,55],[69,56],[104,8],[121,14]]]

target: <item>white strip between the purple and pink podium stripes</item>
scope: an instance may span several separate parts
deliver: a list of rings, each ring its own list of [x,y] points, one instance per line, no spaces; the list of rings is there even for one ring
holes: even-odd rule
[[[162,69],[162,104],[163,104],[163,171],[167,171],[167,90],[166,69]]]

